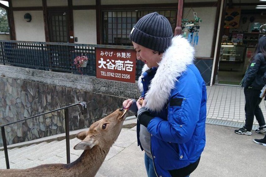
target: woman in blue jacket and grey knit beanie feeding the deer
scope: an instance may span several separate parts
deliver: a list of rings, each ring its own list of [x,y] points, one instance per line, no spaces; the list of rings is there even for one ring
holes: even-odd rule
[[[158,13],[142,17],[130,33],[137,60],[145,65],[138,82],[141,98],[123,106],[137,114],[149,177],[189,176],[205,147],[205,82],[193,64],[193,47],[172,35],[168,19]]]

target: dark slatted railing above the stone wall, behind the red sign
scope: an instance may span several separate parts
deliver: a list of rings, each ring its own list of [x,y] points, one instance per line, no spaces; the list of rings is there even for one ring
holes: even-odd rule
[[[83,75],[96,76],[96,48],[134,49],[132,46],[73,44],[0,40],[0,63],[37,70],[80,74],[74,59],[87,54],[88,65]],[[141,75],[142,62],[136,62],[136,80]]]

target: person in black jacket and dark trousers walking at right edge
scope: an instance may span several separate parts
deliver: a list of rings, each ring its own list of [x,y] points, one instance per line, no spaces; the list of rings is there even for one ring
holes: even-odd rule
[[[255,130],[257,133],[266,132],[265,120],[259,104],[262,100],[260,93],[265,85],[263,75],[266,72],[266,36],[262,36],[257,44],[254,55],[250,60],[247,72],[242,80],[245,94],[245,113],[246,120],[243,128],[235,130],[235,133],[242,135],[251,135],[254,115],[259,123],[259,128]]]

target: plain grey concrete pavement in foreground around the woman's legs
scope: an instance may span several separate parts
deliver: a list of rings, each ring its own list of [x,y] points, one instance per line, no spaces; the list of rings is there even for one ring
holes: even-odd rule
[[[238,135],[234,129],[206,125],[206,147],[191,177],[265,176],[266,147],[253,142],[265,134]],[[146,176],[144,153],[137,147],[136,136],[128,138],[135,142],[105,161],[97,177]]]

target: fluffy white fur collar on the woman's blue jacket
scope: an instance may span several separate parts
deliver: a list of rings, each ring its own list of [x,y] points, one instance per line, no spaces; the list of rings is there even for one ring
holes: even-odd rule
[[[194,48],[187,39],[181,35],[174,37],[171,46],[164,52],[162,60],[158,63],[159,67],[145,96],[147,107],[151,111],[159,112],[162,110],[163,106],[168,102],[171,90],[177,81],[176,78],[187,69],[187,65],[193,63],[193,60]],[[144,65],[142,74],[148,69],[147,65]],[[142,92],[141,77],[143,75],[139,77],[138,86]]]

